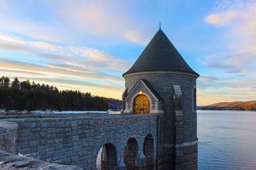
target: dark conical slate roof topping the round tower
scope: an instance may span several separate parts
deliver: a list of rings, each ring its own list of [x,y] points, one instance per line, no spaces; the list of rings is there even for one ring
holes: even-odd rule
[[[188,66],[161,29],[156,32],[140,57],[123,76],[138,71],[181,71],[199,76]]]

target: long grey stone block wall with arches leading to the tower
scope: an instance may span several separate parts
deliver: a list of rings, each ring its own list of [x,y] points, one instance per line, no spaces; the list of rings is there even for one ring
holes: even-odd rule
[[[135,138],[139,154],[147,134],[157,149],[157,115],[99,115],[72,117],[10,117],[19,124],[16,153],[29,157],[93,169],[97,154],[105,143],[115,146],[118,166],[124,166],[124,148]],[[156,153],[156,152],[155,152]],[[155,154],[156,156],[156,154]]]

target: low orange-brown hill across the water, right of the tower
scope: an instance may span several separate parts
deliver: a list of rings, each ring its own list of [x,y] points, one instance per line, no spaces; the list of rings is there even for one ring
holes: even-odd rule
[[[198,106],[198,110],[253,110],[256,111],[256,101],[234,101]]]

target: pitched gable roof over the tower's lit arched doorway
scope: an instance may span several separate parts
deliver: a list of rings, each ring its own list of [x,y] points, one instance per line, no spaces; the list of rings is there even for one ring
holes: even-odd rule
[[[156,90],[153,89],[153,87],[148,83],[148,81],[143,80],[141,78],[137,81],[134,87],[132,87],[131,91],[129,92],[127,97],[125,97],[124,101],[126,101],[131,96],[132,92],[136,90],[136,87],[138,87],[140,83],[142,83],[147,88],[147,90],[152,94],[156,101],[164,101],[164,99],[156,92]]]

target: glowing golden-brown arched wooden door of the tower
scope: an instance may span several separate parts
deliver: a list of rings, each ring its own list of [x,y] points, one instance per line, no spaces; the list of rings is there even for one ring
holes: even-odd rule
[[[143,115],[148,113],[149,113],[148,97],[143,94],[136,96],[133,101],[133,114]]]

